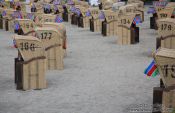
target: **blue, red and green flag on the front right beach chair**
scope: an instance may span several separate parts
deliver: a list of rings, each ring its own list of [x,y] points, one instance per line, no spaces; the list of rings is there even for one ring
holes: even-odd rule
[[[159,74],[158,68],[155,64],[155,61],[153,60],[151,64],[145,69],[144,74],[146,74],[149,77],[155,77]]]

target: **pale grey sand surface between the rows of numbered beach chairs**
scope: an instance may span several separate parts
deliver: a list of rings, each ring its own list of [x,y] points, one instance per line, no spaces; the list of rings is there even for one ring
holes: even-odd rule
[[[149,16],[145,13],[135,45],[117,45],[117,37],[65,23],[65,69],[48,71],[48,88],[43,90],[16,90],[13,33],[0,30],[0,113],[130,113],[129,108],[150,107],[159,76],[143,74],[156,47]]]

